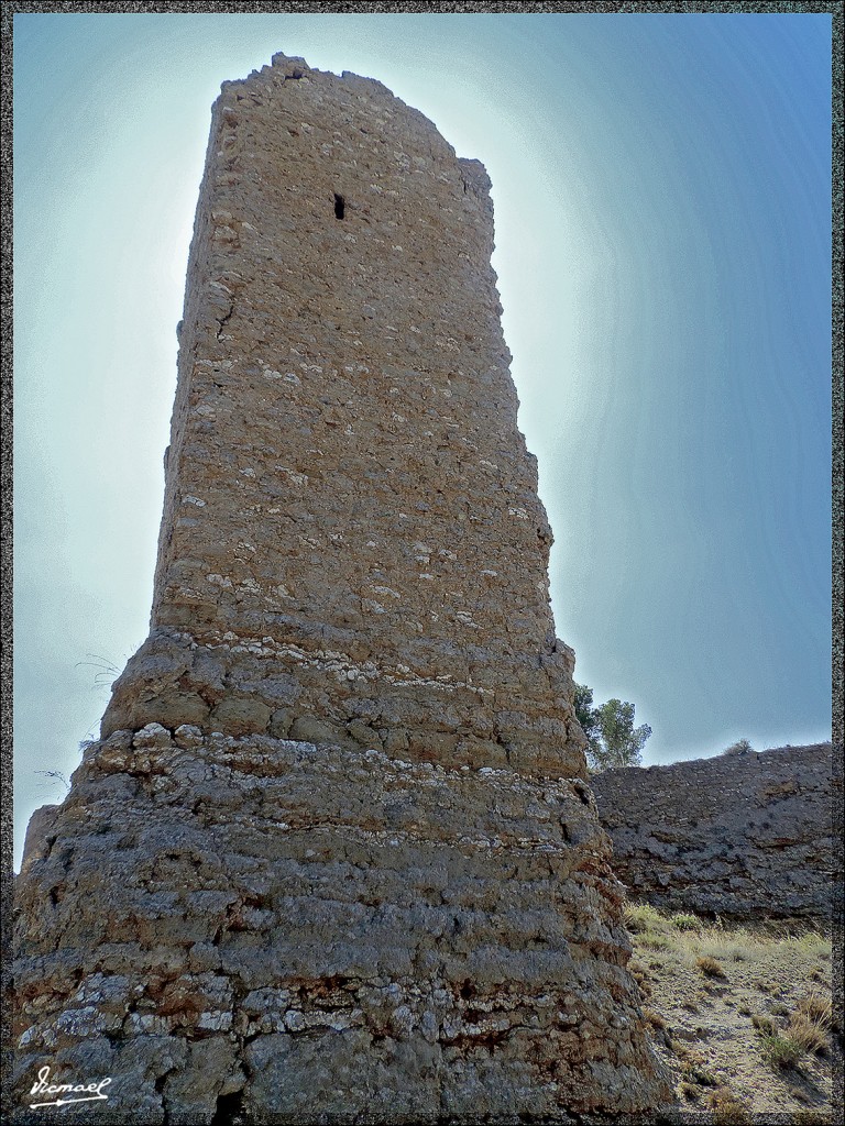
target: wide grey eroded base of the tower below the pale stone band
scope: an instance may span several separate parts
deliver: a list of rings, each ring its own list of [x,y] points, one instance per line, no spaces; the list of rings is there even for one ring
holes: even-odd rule
[[[109,1075],[109,1120],[171,1126],[667,1097],[580,779],[151,725],[91,747],[30,838],[21,1085]]]

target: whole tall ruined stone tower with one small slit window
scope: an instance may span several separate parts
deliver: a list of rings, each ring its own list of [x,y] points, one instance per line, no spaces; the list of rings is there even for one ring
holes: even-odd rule
[[[109,1123],[666,1100],[488,189],[377,82],[277,55],[224,84],[150,637],[18,881],[21,1106],[45,1065],[110,1076],[63,1111]]]

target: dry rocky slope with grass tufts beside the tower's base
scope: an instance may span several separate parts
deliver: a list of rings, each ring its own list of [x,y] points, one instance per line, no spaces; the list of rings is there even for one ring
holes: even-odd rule
[[[840,1120],[833,944],[807,922],[736,924],[631,904],[632,967],[691,1123]]]

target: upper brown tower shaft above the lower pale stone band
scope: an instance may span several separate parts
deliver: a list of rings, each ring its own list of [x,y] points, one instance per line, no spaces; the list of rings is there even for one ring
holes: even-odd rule
[[[153,634],[104,735],[192,723],[582,772],[489,186],[379,82],[276,56],[224,84]]]

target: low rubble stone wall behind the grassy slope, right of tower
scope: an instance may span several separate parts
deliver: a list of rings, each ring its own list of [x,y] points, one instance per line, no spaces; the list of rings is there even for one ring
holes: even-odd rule
[[[616,875],[653,906],[829,918],[842,894],[830,743],[607,770],[590,786]]]

